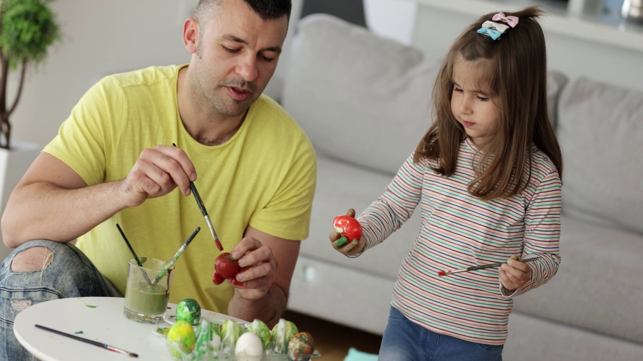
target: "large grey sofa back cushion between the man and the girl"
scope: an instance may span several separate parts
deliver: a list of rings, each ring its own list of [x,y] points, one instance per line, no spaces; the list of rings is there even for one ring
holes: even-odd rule
[[[397,172],[430,125],[438,59],[331,15],[309,15],[298,30],[284,108],[318,154]]]

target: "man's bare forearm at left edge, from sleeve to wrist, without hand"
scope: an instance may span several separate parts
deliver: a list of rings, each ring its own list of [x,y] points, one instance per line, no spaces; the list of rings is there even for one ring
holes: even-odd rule
[[[123,209],[119,182],[87,187],[69,166],[42,152],[15,186],[2,216],[3,240],[69,242]]]

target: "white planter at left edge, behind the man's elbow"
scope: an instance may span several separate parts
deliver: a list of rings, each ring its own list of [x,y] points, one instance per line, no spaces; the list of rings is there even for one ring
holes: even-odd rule
[[[12,142],[10,150],[0,148],[0,213],[5,213],[6,201],[15,185],[22,179],[42,147],[33,143]],[[5,246],[0,233],[0,262],[5,260],[12,249]]]

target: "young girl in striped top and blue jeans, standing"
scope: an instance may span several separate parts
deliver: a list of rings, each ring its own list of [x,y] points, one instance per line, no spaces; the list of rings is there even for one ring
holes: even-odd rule
[[[435,121],[358,217],[361,240],[331,234],[338,251],[359,256],[421,205],[379,360],[502,360],[512,298],[556,274],[563,164],[547,113],[540,15],[490,13],[464,30],[435,82]],[[520,261],[528,258],[539,260]]]

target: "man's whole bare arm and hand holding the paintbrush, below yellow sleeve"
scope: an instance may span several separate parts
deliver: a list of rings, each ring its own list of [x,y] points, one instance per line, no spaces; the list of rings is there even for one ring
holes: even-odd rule
[[[69,242],[121,209],[166,195],[177,184],[189,195],[188,175],[196,178],[183,150],[156,146],[141,152],[125,179],[88,187],[71,167],[42,152],[9,197],[3,241],[10,248],[37,239]]]

